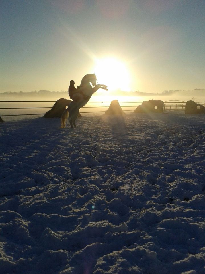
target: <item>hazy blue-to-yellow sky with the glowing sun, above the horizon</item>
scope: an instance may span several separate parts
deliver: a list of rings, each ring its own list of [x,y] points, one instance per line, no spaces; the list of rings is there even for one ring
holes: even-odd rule
[[[0,5],[0,92],[68,90],[93,72],[111,90],[205,88],[204,0]]]

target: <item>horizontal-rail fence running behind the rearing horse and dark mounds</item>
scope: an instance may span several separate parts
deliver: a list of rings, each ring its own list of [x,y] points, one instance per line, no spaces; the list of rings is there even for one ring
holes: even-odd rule
[[[1,104],[2,103],[55,103],[56,101],[0,101]],[[105,113],[106,110],[109,108],[109,105],[106,106],[101,106],[101,105],[97,105],[97,104],[109,104],[111,103],[111,101],[106,101],[106,102],[88,102],[87,104],[90,104],[86,106],[84,106],[83,108],[81,108],[81,114],[85,113]],[[94,104],[94,105],[93,105]],[[142,104],[142,102],[119,102],[119,104],[121,104],[121,108],[123,111],[129,111],[132,112],[134,111],[140,104]],[[126,105],[124,105],[126,104]],[[132,104],[132,105],[127,105],[127,104]],[[163,109],[164,112],[178,112],[178,111],[183,111],[185,112],[185,106],[186,106],[186,102],[184,101],[178,101],[178,100],[172,100],[172,101],[165,101],[163,102]],[[202,104],[203,106],[205,106],[205,102],[198,102],[198,104]],[[44,115],[46,113],[46,111],[44,113],[21,113],[21,114],[9,114],[9,113],[5,113],[6,110],[26,110],[26,109],[51,109],[52,106],[26,106],[26,107],[1,107],[1,113],[0,116],[26,116],[26,115]],[[84,111],[86,109],[89,109],[88,111]],[[95,110],[93,110],[95,109]],[[101,110],[103,109],[103,110]],[[8,111],[7,111],[8,112]],[[18,111],[19,112],[19,111]]]

